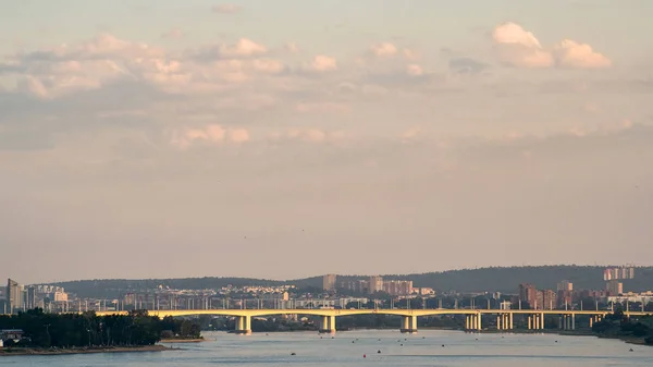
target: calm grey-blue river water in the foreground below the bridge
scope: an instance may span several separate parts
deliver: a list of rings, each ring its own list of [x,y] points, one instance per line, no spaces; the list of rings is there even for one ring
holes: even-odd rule
[[[168,352],[1,357],[0,366],[653,366],[651,346],[593,337],[366,330],[333,339],[315,332],[206,332],[205,338]]]

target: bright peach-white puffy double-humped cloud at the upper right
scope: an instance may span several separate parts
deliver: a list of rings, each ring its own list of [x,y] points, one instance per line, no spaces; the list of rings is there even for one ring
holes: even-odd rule
[[[513,68],[599,69],[612,64],[590,45],[570,39],[546,49],[531,32],[512,22],[497,25],[492,38],[501,62]]]

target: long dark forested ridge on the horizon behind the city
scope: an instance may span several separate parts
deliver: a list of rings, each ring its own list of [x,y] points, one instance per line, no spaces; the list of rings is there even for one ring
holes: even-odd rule
[[[569,280],[574,289],[605,289],[603,270],[597,266],[541,266],[512,268],[481,268],[429,272],[422,274],[390,274],[384,279],[407,279],[414,286],[433,288],[439,292],[490,292],[516,293],[520,283],[532,283],[539,289],[556,289],[562,280]],[[368,276],[338,276],[342,280],[367,278]],[[624,280],[624,291],[640,292],[653,290],[653,267],[640,267],[634,270],[632,280]],[[120,292],[155,289],[159,285],[171,289],[219,289],[232,284],[244,285],[281,285],[295,284],[299,288],[322,285],[321,277],[284,281],[260,280],[247,278],[185,278],[185,279],[146,279],[146,280],[82,280],[57,283],[67,292],[87,297],[115,296]]]

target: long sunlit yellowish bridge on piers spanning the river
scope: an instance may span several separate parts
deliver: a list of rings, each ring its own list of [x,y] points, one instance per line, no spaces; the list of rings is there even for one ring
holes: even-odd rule
[[[128,311],[98,311],[98,316],[127,315]],[[403,333],[417,332],[417,318],[442,315],[464,315],[465,329],[468,331],[480,331],[483,329],[482,320],[489,317],[496,317],[497,330],[513,330],[514,318],[516,315],[526,318],[526,327],[529,330],[544,330],[544,317],[557,317],[557,326],[563,330],[576,329],[576,317],[587,316],[589,326],[601,321],[609,310],[567,310],[567,309],[165,309],[148,310],[151,316],[160,318],[172,316],[226,316],[236,319],[235,332],[239,334],[251,333],[251,318],[275,315],[306,315],[321,317],[320,332],[335,333],[335,318],[340,316],[357,315],[394,315],[402,317],[401,331]],[[653,313],[644,311],[624,311],[625,317],[649,316]]]

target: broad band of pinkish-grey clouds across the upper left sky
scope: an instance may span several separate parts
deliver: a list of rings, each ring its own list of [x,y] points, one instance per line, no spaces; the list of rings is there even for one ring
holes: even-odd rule
[[[173,56],[147,44],[100,34],[75,45],[9,56],[0,61],[0,76],[9,74],[15,81],[11,90],[42,99],[127,82],[156,85],[176,95],[206,94],[224,90],[222,82],[243,83],[287,69],[267,53],[266,46],[241,38]]]

